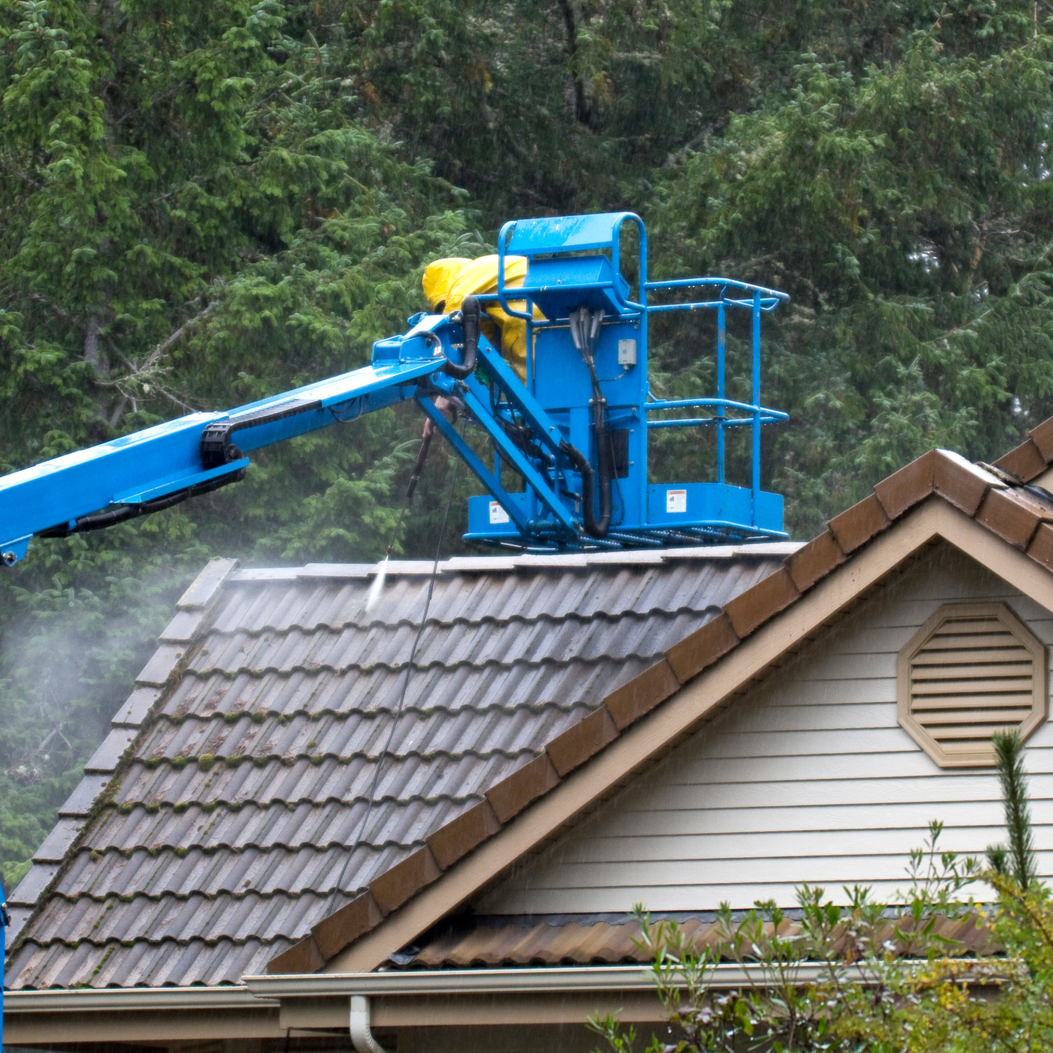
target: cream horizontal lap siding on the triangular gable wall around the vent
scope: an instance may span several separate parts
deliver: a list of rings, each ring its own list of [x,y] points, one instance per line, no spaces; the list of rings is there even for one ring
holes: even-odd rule
[[[475,909],[794,906],[803,882],[841,901],[843,885],[891,896],[933,818],[946,823],[945,849],[981,854],[1005,837],[997,776],[940,769],[897,724],[896,654],[941,603],[992,599],[1053,642],[1048,611],[941,544]],[[1050,877],[1048,721],[1028,742],[1027,766],[1039,871]]]

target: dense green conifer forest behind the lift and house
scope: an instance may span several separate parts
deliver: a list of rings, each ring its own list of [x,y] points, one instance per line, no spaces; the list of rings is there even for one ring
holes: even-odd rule
[[[622,208],[652,275],[793,297],[762,389],[791,414],[764,484],[792,536],[933,445],[992,460],[1053,414],[1051,17],[0,0],[0,473],[363,364],[423,305],[430,259],[492,251],[505,219]],[[710,347],[700,323],[656,327],[653,390],[707,391]],[[204,562],[379,558],[420,425],[403,406],[304,436],[237,486],[0,574],[8,891]],[[656,477],[712,471],[690,432],[652,451]],[[450,470],[433,456],[406,556],[431,555]]]

